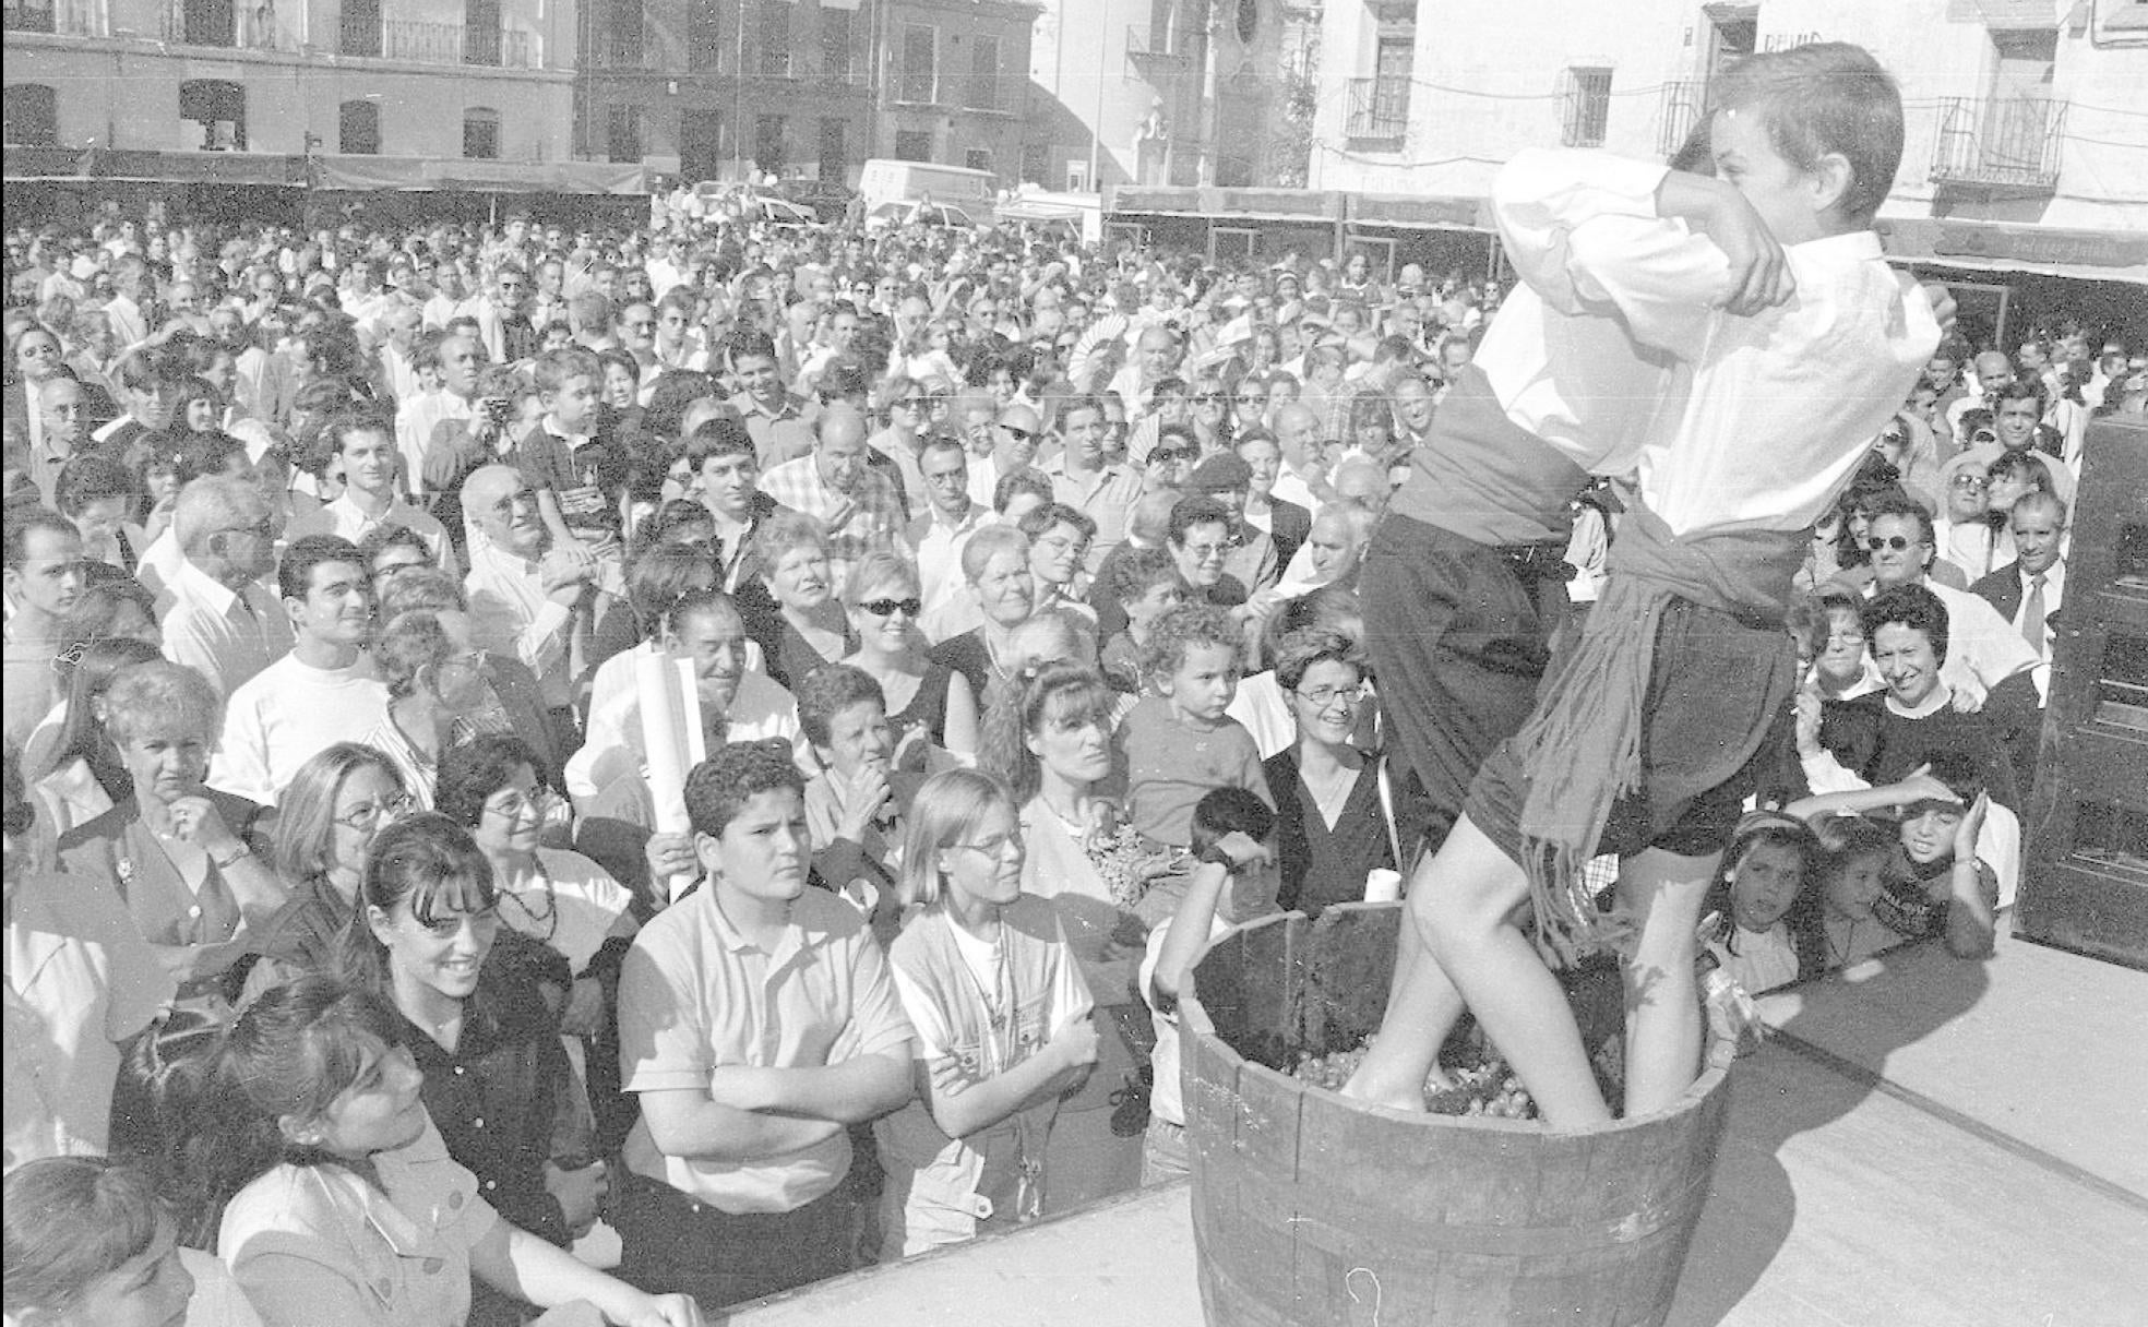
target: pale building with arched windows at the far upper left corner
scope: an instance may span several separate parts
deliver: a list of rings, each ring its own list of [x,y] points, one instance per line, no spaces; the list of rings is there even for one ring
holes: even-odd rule
[[[574,6],[6,0],[6,144],[565,161]]]

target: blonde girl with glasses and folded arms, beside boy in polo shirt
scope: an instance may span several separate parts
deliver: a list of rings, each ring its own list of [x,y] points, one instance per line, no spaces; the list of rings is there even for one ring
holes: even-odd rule
[[[1044,1211],[1061,1095],[1098,1059],[1089,990],[1053,906],[1022,893],[1022,833],[999,779],[954,769],[911,803],[889,947],[917,1031],[917,1099],[874,1125],[883,1260]]]

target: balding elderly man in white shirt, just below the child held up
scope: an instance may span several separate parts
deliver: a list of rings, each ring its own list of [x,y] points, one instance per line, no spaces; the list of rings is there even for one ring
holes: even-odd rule
[[[552,715],[554,749],[580,745],[574,721],[578,655],[601,599],[597,563],[580,550],[552,548],[537,492],[511,466],[483,466],[462,490],[470,515],[470,618],[477,644],[520,659],[537,674]]]

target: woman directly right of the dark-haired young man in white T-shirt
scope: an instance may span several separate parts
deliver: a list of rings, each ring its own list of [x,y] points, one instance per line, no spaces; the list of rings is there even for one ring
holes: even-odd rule
[[[479,732],[505,732],[500,702],[485,685],[485,651],[470,642],[464,612],[406,612],[374,640],[374,672],[389,709],[365,737],[395,762],[404,788],[432,807],[440,754]]]

